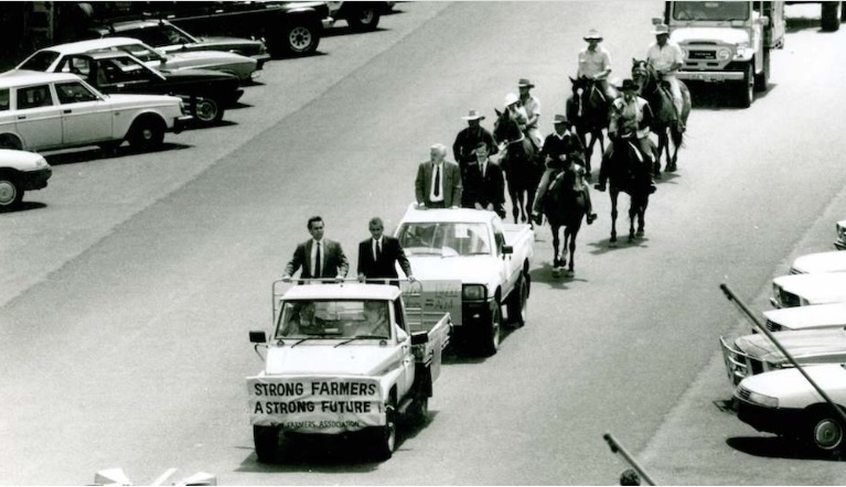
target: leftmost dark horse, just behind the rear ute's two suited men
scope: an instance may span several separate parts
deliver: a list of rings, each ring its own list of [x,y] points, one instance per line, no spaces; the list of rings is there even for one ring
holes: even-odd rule
[[[493,125],[493,138],[497,142],[505,143],[500,165],[508,182],[514,223],[516,224],[518,218],[526,223],[532,213],[544,166],[535,144],[520,130],[520,125],[511,118],[508,111],[500,112],[496,109],[494,111],[496,111],[496,121]]]

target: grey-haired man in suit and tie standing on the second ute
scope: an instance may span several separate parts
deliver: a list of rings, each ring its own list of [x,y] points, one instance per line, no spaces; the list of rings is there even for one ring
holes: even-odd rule
[[[436,143],[429,150],[429,161],[420,163],[415,178],[417,207],[458,208],[461,203],[461,170],[447,161],[447,147]]]

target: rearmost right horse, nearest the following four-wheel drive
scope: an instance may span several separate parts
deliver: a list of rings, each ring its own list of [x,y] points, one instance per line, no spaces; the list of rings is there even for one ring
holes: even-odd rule
[[[652,131],[658,136],[658,150],[655,156],[655,176],[661,175],[661,154],[666,154],[667,172],[676,170],[678,148],[684,143],[684,132],[687,127],[687,117],[690,115],[690,91],[687,86],[678,82],[682,89],[682,113],[676,113],[673,105],[673,95],[666,82],[660,82],[658,75],[652,64],[646,61],[632,59],[632,79],[640,88],[641,98],[650,104],[654,121]],[[673,141],[673,156],[670,156],[670,140]]]

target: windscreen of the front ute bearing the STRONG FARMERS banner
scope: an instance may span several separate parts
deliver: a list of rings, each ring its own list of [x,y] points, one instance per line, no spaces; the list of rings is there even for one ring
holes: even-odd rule
[[[390,338],[388,302],[383,300],[287,301],[276,338]]]

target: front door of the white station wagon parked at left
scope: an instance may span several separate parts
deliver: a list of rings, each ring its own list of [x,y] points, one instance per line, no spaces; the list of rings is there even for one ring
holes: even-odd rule
[[[56,83],[62,107],[62,134],[66,145],[113,140],[113,108],[81,82]]]

